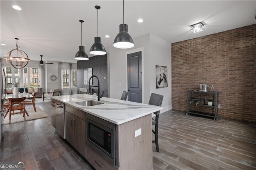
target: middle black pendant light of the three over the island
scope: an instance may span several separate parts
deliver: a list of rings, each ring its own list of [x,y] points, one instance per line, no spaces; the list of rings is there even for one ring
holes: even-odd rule
[[[90,54],[93,55],[105,55],[106,49],[101,43],[101,38],[99,37],[99,19],[98,19],[98,10],[100,9],[100,6],[96,5],[95,8],[97,9],[97,37],[94,37],[94,44],[92,44],[92,47],[90,49]]]

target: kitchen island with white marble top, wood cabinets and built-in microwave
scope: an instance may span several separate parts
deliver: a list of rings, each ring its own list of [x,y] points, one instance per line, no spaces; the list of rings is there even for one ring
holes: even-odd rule
[[[65,105],[66,140],[96,169],[152,169],[151,118],[153,112],[163,108],[106,97],[101,98],[103,104],[78,104],[92,99],[86,94],[52,97]],[[72,140],[68,139],[70,127]],[[102,136],[107,133],[107,142],[98,137],[101,132],[94,127],[106,129]]]

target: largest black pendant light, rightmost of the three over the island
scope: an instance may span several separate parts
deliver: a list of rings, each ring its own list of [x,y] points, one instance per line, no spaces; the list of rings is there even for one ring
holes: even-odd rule
[[[119,25],[119,33],[117,34],[113,46],[116,48],[132,48],[134,42],[130,34],[128,34],[128,25],[124,24],[124,0],[123,0],[123,24]]]

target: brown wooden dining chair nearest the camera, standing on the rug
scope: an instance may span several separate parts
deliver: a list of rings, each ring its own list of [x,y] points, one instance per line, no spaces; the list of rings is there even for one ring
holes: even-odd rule
[[[10,106],[9,106],[9,124],[11,124],[11,115],[15,114],[22,114],[24,117],[24,121],[26,121],[26,114],[28,116],[28,113],[26,113],[25,109],[25,99],[26,97],[21,98],[11,98]],[[17,111],[17,112],[16,112]]]

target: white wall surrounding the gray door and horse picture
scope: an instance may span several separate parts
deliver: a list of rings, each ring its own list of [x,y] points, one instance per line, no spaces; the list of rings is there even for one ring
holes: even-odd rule
[[[161,111],[172,109],[171,106],[171,44],[153,34],[134,38],[132,49],[110,47],[110,98],[120,99],[123,90],[127,90],[127,53],[144,49],[142,56],[143,97],[142,103],[148,103],[151,93],[164,95]],[[156,65],[168,67],[168,87],[156,89]]]

